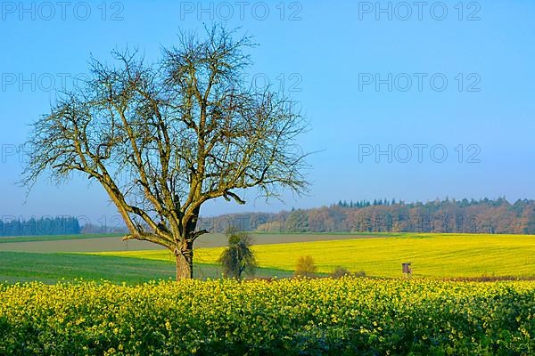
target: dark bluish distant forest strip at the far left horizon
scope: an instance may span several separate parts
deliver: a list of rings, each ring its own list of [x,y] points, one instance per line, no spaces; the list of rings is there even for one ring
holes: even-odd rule
[[[76,217],[2,219],[0,236],[75,235],[81,231]]]

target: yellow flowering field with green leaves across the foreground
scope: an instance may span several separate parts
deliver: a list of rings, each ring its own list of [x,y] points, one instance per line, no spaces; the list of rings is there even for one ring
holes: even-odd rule
[[[0,284],[0,354],[535,352],[535,282]]]

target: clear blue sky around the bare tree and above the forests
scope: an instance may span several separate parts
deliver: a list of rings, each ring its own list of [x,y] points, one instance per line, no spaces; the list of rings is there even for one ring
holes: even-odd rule
[[[333,4],[332,4],[333,3]],[[339,199],[535,198],[535,2],[128,1],[0,4],[0,214],[112,219],[101,187],[20,178],[29,123],[90,55],[159,58],[182,30],[223,22],[254,36],[251,78],[302,105],[312,183],[285,203],[225,201],[202,214]],[[25,203],[26,201],[26,203]],[[25,204],[24,204],[25,203]]]

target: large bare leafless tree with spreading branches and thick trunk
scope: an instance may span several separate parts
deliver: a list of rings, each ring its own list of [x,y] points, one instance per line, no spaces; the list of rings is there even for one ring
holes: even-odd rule
[[[233,35],[183,34],[152,65],[128,51],[114,53],[116,66],[92,60],[84,85],[34,123],[22,182],[86,175],[117,206],[124,239],[169,248],[177,279],[193,278],[193,242],[208,232],[197,230],[204,202],[308,186],[296,143],[306,122],[292,100],[244,83],[251,38]]]

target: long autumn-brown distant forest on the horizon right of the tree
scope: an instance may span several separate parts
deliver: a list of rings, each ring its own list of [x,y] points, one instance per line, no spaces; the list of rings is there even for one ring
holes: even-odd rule
[[[202,218],[201,227],[268,232],[467,232],[535,234],[535,200],[506,198],[339,201],[332,206],[292,209],[278,214],[226,214]]]

